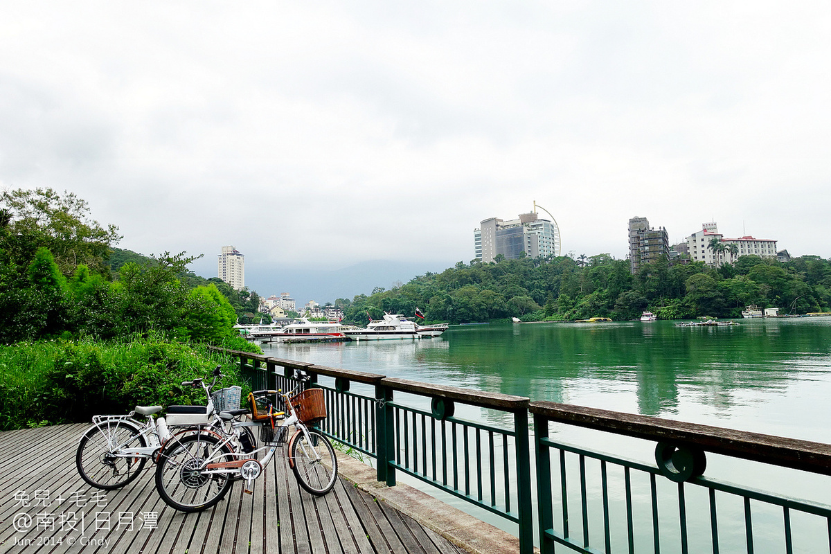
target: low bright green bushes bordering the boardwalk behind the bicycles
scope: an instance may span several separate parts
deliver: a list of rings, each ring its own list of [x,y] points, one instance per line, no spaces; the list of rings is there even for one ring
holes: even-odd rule
[[[180,385],[217,365],[221,386],[245,386],[229,355],[160,336],[0,346],[0,429],[89,421],[136,404],[204,404],[203,390]]]

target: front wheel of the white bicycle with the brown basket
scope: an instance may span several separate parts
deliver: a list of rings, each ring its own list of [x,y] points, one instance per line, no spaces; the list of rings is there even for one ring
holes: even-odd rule
[[[302,431],[292,443],[292,467],[297,483],[309,493],[322,496],[332,490],[337,478],[337,458],[329,439],[313,429]]]

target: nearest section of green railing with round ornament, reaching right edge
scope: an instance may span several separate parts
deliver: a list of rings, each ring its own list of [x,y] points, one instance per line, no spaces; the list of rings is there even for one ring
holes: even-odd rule
[[[829,475],[829,444],[553,402],[532,402],[529,409],[536,436],[542,552],[554,552],[555,544],[574,552],[612,552],[615,547],[616,552],[630,553],[741,549],[752,554],[760,544],[763,552],[804,552],[794,547],[792,520],[796,513],[814,517],[814,522],[803,526],[813,527],[816,541],[810,545],[811,552],[820,552],[819,548],[831,551],[831,507],[703,477],[705,451]],[[552,424],[654,441],[656,464],[555,441],[549,438]],[[569,479],[569,468],[575,466],[578,478]],[[597,495],[588,493],[592,481],[597,484],[595,489],[599,488]],[[617,488],[612,488],[612,482]],[[612,490],[617,496],[617,512],[610,500]],[[695,493],[698,495],[691,503]],[[574,496],[578,502],[573,502]],[[725,511],[730,512],[726,517]],[[775,516],[777,511],[779,517]],[[597,532],[593,532],[592,513],[597,516]],[[736,517],[743,522],[737,525]],[[757,518],[764,523],[755,527]],[[618,526],[617,535],[612,526],[616,520],[625,522],[625,527]],[[729,541],[725,535],[730,536]],[[816,542],[826,544],[823,548]]]

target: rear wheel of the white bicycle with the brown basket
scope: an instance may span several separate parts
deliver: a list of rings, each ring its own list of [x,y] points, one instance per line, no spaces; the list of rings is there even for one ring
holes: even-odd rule
[[[213,435],[191,434],[175,440],[159,456],[156,490],[180,512],[199,512],[218,503],[231,488],[232,478],[203,473],[205,463],[230,462],[231,449]]]

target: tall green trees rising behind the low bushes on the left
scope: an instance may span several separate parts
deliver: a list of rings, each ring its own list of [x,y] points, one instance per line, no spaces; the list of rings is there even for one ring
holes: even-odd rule
[[[194,258],[114,252],[117,228],[89,218],[71,193],[6,191],[0,202],[0,343],[155,331],[258,351],[234,331],[237,311],[218,288],[230,287],[190,282]]]

